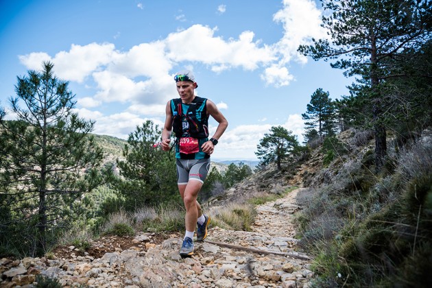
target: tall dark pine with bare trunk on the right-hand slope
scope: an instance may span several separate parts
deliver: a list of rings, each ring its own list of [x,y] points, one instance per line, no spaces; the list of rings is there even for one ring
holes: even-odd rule
[[[330,39],[315,40],[299,51],[313,59],[334,60],[345,75],[361,75],[372,104],[376,167],[387,152],[383,83],[396,77],[387,66],[408,49],[418,50],[431,36],[429,0],[322,0],[323,27]]]

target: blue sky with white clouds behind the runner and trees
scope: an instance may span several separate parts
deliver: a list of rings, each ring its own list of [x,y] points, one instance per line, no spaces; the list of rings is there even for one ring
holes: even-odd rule
[[[229,122],[213,158],[252,160],[272,125],[302,141],[317,88],[348,94],[342,71],[296,51],[326,36],[321,9],[311,0],[0,0],[0,106],[17,75],[50,60],[93,132],[126,139],[147,119],[163,125],[178,97],[173,75],[191,69],[195,93]]]

